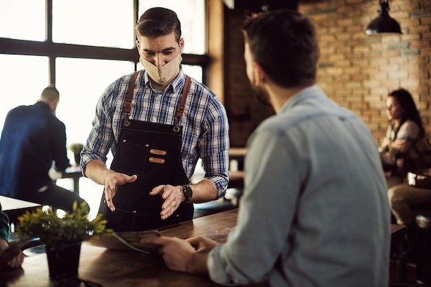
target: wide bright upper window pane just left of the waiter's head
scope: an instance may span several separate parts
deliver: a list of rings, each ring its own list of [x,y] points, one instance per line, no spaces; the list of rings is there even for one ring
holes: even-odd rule
[[[132,0],[52,0],[52,41],[134,47]]]

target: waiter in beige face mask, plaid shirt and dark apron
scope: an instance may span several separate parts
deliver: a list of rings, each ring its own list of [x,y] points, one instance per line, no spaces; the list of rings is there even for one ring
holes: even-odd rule
[[[81,153],[83,175],[104,186],[99,213],[117,232],[191,220],[193,203],[222,198],[228,184],[226,111],[182,71],[185,43],[176,13],[147,10],[136,36],[144,70],[105,89]],[[205,177],[189,184],[199,158]]]

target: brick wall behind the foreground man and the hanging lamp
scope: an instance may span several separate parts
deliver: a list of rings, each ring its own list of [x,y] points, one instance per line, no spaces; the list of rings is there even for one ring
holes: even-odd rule
[[[385,98],[398,87],[408,89],[423,124],[431,132],[431,0],[390,0],[390,16],[402,35],[366,36],[377,17],[378,1],[300,1],[299,12],[313,19],[321,56],[317,84],[339,105],[361,116],[376,142],[386,133]],[[251,96],[242,56],[243,12],[225,11],[225,105],[231,123],[231,144],[244,145],[272,109]]]

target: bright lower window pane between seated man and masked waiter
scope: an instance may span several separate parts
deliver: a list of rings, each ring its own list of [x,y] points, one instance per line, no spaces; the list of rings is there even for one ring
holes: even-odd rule
[[[56,59],[56,115],[65,123],[68,145],[87,140],[98,98],[109,84],[132,72],[134,63],[128,61]]]

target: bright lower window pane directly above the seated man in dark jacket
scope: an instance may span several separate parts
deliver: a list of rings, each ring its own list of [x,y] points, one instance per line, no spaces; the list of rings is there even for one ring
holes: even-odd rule
[[[0,134],[8,111],[19,105],[33,105],[50,85],[49,61],[45,56],[0,54]]]

